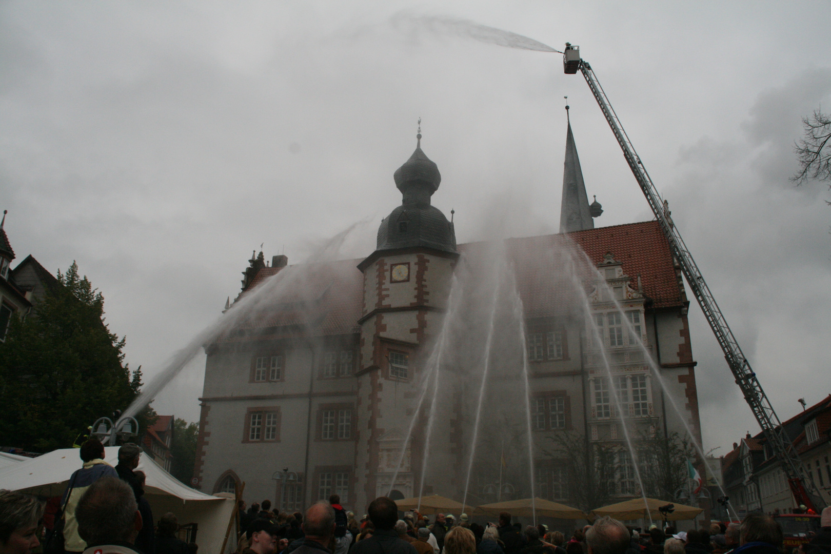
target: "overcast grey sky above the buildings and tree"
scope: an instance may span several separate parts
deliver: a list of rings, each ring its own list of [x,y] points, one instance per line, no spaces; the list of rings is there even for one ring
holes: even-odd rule
[[[560,55],[402,13],[580,45],[780,417],[831,392],[831,194],[788,182],[799,118],[831,109],[828,2],[2,2],[0,208],[18,260],[77,260],[146,380],[237,294],[260,243],[299,262],[366,220],[346,253],[369,254],[418,117],[460,243],[556,232],[566,95],[597,225],[652,218]],[[724,454],[758,427],[690,313],[705,449]],[[198,418],[202,365],[160,413]]]

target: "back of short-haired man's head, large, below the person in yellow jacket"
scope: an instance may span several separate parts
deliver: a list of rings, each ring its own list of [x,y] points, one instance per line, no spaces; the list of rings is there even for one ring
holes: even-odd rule
[[[143,527],[141,512],[133,489],[119,478],[102,477],[92,483],[78,501],[75,518],[87,545],[84,554],[138,552],[133,544]]]

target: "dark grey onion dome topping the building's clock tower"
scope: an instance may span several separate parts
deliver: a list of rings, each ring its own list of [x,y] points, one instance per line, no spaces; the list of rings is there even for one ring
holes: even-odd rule
[[[393,175],[401,191],[401,206],[381,221],[377,251],[426,247],[456,252],[453,223],[439,208],[430,205],[430,197],[439,188],[441,174],[421,150],[421,132],[416,135],[416,151]]]

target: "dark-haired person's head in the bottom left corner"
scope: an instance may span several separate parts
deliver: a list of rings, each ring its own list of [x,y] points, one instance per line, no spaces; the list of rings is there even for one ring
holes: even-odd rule
[[[0,554],[31,554],[39,547],[37,523],[42,515],[37,498],[0,490]]]

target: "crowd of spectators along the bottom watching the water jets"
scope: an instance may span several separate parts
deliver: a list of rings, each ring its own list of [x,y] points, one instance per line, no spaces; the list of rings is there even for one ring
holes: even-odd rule
[[[42,534],[45,509],[36,497],[0,491],[0,554],[195,554],[196,545],[177,537],[179,524],[166,513],[154,525],[144,498],[145,475],[136,471],[141,449],[125,444],[119,463],[104,460],[95,439],[81,447],[83,467],[72,473],[52,527]],[[418,512],[399,518],[394,500],[373,500],[356,519],[337,495],[312,504],[305,513],[274,513],[271,503],[238,506],[238,554],[789,554],[773,517],[750,514],[741,523],[713,524],[676,532],[653,525],[643,531],[612,517],[576,529],[570,537],[544,525],[522,527],[509,512],[480,525],[466,514],[459,521],[437,514],[430,522]],[[831,554],[831,507],[821,532],[799,554]],[[42,542],[44,544],[42,545]],[[214,554],[214,553],[212,553]]]

